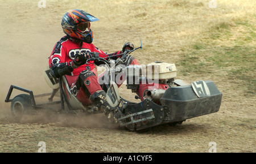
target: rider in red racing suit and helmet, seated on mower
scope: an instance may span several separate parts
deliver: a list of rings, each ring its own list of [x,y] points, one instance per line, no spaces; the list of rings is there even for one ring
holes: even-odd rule
[[[66,36],[55,44],[49,57],[51,76],[59,78],[65,76],[71,92],[84,106],[94,103],[98,109],[109,115],[112,107],[106,101],[106,92],[97,81],[97,70],[93,61],[86,64],[89,59],[88,52],[98,52],[100,57],[105,58],[123,53],[125,50],[133,50],[133,44],[127,42],[121,51],[107,54],[92,44],[93,31],[90,22],[98,19],[85,11],[73,9],[66,12],[61,21],[61,27]],[[116,57],[115,57],[116,59]],[[138,64],[137,60],[128,55],[123,60],[126,66]]]

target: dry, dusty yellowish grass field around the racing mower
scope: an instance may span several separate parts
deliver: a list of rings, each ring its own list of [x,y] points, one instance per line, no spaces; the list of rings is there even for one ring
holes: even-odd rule
[[[0,152],[256,152],[256,2],[254,0],[0,0]],[[64,36],[68,10],[80,8],[92,23],[93,44],[113,53],[127,41],[143,48],[139,63],[175,63],[177,79],[212,80],[223,93],[220,111],[162,125],[144,133],[109,124],[102,114],[40,114],[16,122],[5,98],[11,84],[48,93],[43,71],[53,46]],[[19,94],[14,92],[13,95]],[[129,100],[134,94],[121,87]]]

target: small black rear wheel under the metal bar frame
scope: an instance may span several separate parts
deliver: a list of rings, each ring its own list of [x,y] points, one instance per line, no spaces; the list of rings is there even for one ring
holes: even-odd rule
[[[24,114],[31,113],[32,104],[28,94],[19,94],[11,101],[11,114],[16,120],[20,120]]]

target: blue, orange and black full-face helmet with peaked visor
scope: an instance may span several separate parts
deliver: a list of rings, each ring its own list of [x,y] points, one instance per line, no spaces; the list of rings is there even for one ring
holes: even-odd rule
[[[63,32],[69,37],[91,44],[93,41],[93,32],[90,29],[90,21],[97,21],[96,17],[79,9],[73,9],[66,12],[61,21]]]

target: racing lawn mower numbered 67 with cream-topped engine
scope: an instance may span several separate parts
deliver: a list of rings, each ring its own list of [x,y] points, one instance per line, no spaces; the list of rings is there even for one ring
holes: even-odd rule
[[[125,57],[134,50],[127,50],[121,55]],[[108,77],[103,80],[107,88],[106,100],[109,105],[117,109],[119,117],[115,121],[120,127],[141,131],[160,124],[181,124],[186,119],[215,113],[220,109],[222,93],[213,81],[199,80],[188,84],[183,80],[175,79],[177,70],[174,63],[156,61],[146,66],[122,66],[118,64],[118,59],[107,61],[99,57],[98,53],[90,53],[88,61],[105,63],[107,71],[104,77]],[[118,86],[113,80],[118,74],[126,76],[126,88],[136,93],[135,99],[140,102],[130,102],[119,95]],[[44,77],[52,88],[51,93],[34,96],[31,90],[11,85],[5,102],[11,102],[11,113],[16,119],[39,109],[52,109],[52,105],[58,106],[57,109],[53,109],[58,113],[100,112],[96,106],[84,106],[77,100],[71,93],[65,76],[55,79],[49,75],[48,68],[44,72]],[[19,94],[10,99],[13,89],[28,94]],[[60,98],[53,101],[53,97],[57,96],[56,93],[59,93]],[[47,103],[35,103],[36,97],[45,96],[49,96]]]

